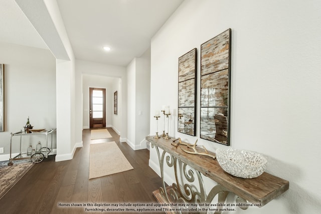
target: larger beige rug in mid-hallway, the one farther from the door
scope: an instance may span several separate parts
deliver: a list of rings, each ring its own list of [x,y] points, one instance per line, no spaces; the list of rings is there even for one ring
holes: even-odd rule
[[[89,179],[133,169],[114,142],[90,144]]]

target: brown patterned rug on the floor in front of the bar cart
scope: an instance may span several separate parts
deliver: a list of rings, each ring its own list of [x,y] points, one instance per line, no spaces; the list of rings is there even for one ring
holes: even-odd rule
[[[31,169],[33,162],[0,165],[0,199]]]

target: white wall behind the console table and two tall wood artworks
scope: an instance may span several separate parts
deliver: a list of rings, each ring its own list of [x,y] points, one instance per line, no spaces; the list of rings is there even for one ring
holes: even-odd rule
[[[185,0],[151,40],[150,112],[170,104],[170,135],[195,142],[200,86],[193,137],[177,132],[178,57],[197,47],[200,79],[200,45],[232,29],[231,147],[262,153],[266,171],[290,182],[289,190],[265,206],[235,213],[321,210],[320,14],[317,0]],[[226,148],[203,139],[198,144]],[[157,164],[152,149],[150,165],[157,170]]]

